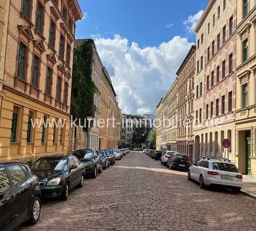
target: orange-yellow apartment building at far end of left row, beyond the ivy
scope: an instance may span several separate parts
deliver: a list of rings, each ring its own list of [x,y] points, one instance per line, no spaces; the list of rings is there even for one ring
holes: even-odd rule
[[[117,95],[106,68],[102,68],[100,93],[100,117],[105,121],[105,125],[100,128],[100,149],[115,149],[118,148],[118,141],[121,136],[121,127],[118,124],[121,121],[121,110],[118,107]]]

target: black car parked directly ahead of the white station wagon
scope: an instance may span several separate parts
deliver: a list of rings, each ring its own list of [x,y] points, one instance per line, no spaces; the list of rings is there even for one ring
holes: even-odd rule
[[[188,170],[191,166],[191,160],[188,156],[183,154],[174,154],[170,158],[170,165],[169,168],[172,169],[179,169],[179,170]]]

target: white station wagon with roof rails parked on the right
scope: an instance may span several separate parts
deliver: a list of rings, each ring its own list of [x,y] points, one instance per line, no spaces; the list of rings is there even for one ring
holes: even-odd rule
[[[196,180],[199,186],[225,186],[239,192],[242,187],[242,174],[236,165],[227,159],[203,158],[188,170],[188,180]]]

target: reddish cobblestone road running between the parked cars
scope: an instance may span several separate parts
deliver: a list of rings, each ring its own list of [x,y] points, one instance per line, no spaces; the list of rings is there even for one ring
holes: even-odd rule
[[[68,201],[43,204],[39,223],[19,230],[256,230],[256,200],[201,190],[187,174],[134,152]]]

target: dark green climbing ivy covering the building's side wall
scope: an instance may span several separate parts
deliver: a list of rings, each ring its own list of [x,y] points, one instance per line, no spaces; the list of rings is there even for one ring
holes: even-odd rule
[[[93,40],[88,39],[80,47],[74,49],[71,94],[73,119],[81,118],[84,121],[86,117],[94,117],[96,110],[94,93],[98,90],[92,81],[92,72]]]

